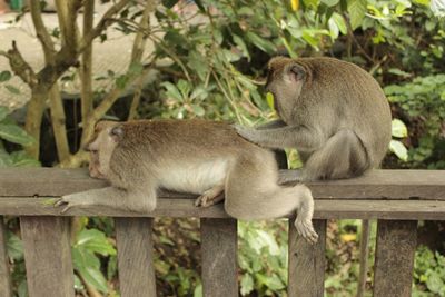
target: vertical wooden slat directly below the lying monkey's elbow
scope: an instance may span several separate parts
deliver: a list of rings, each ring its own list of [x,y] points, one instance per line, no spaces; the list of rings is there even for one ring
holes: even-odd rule
[[[115,218],[120,296],[156,296],[152,218]]]

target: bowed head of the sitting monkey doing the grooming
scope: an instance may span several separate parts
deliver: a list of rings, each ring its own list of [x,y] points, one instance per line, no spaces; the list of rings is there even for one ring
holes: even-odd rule
[[[296,60],[275,57],[268,63],[267,91],[274,95],[278,115],[286,120],[286,111],[291,111],[307,77],[306,68]]]

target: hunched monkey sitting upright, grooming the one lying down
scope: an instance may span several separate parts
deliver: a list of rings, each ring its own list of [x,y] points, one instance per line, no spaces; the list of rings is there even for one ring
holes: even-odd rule
[[[275,57],[266,90],[279,120],[238,135],[264,148],[296,148],[304,164],[280,182],[345,179],[378,167],[392,138],[388,100],[358,66],[334,58]]]

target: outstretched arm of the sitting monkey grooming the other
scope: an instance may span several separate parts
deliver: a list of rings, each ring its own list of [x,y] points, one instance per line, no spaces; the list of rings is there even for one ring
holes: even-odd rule
[[[250,142],[273,149],[297,148],[301,150],[315,150],[323,142],[323,136],[317,129],[305,126],[285,126],[275,129],[257,130],[236,125],[235,129],[238,135]]]

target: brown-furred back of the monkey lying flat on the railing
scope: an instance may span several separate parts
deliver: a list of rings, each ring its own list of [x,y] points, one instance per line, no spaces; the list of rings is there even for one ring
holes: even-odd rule
[[[264,150],[239,137],[228,123],[209,120],[136,120],[122,123],[118,147],[156,158],[234,156],[247,149]],[[172,145],[175,143],[175,145]]]

